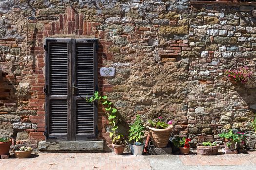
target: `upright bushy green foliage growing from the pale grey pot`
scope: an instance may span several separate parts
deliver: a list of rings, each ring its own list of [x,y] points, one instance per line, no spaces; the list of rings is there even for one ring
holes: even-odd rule
[[[140,115],[136,115],[136,119],[132,125],[130,125],[130,130],[129,130],[129,141],[134,141],[134,142],[143,142],[143,139],[141,136],[144,135],[145,127],[142,124],[142,121],[140,119]]]

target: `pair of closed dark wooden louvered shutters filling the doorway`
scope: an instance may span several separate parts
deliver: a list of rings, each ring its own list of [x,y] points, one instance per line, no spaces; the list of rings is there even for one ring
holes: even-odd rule
[[[46,39],[46,140],[97,140],[97,42]]]

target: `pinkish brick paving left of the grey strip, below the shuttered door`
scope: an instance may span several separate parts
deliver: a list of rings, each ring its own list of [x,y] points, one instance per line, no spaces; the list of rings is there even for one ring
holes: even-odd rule
[[[30,159],[0,159],[0,170],[151,170],[151,168],[144,156],[116,156],[114,153],[39,153],[38,157]]]

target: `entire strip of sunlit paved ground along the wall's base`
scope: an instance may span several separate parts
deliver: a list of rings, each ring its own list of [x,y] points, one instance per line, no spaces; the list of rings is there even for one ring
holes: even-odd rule
[[[256,151],[234,155],[117,156],[114,153],[39,153],[0,159],[0,170],[254,170]]]

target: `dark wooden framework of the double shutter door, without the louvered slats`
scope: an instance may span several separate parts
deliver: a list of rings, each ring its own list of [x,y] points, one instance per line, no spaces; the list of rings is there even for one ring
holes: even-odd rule
[[[50,132],[50,51],[49,44],[51,42],[67,43],[68,49],[68,91],[67,91],[67,137],[65,135],[53,135]],[[76,100],[74,94],[73,83],[76,82],[76,43],[93,43],[94,49],[94,92],[98,91],[98,39],[71,39],[71,38],[45,38],[45,140],[46,141],[93,141],[98,140],[98,101],[94,101],[94,131],[92,135],[83,135],[79,139],[76,139]],[[90,97],[90,96],[88,96]],[[63,98],[59,98],[63,99]],[[56,136],[58,136],[57,139]]]

